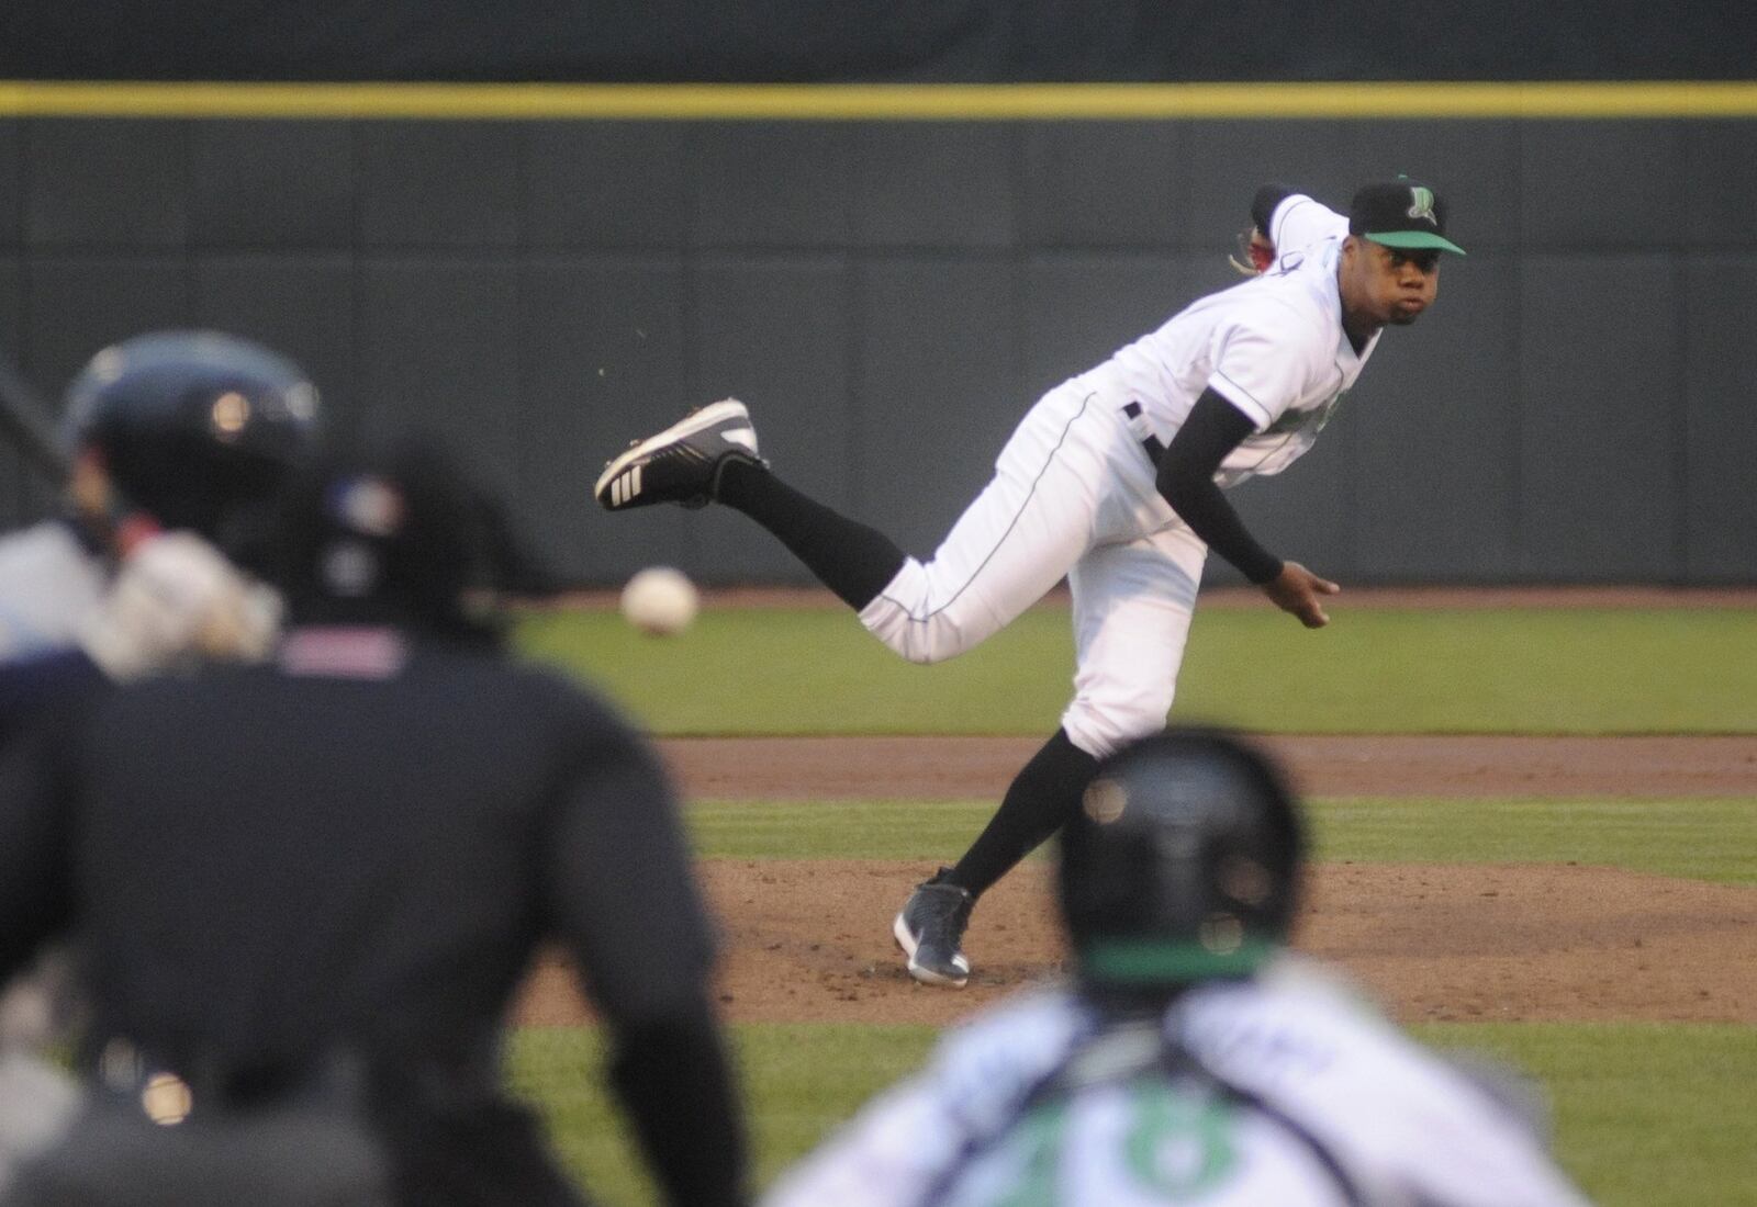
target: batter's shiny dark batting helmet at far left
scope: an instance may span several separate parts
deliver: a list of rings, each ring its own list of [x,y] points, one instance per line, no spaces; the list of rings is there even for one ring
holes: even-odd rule
[[[151,332],[105,347],[67,389],[63,440],[95,451],[121,505],[227,544],[313,446],[318,391],[279,353],[221,332]]]

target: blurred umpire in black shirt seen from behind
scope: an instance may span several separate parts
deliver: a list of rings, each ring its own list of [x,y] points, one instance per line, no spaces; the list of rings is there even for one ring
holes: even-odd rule
[[[566,942],[669,1203],[741,1203],[713,947],[671,789],[471,602],[488,509],[418,440],[327,456],[264,554],[267,665],[104,693],[0,760],[0,975],[77,928],[93,1105],[39,1203],[578,1203],[499,1089]]]

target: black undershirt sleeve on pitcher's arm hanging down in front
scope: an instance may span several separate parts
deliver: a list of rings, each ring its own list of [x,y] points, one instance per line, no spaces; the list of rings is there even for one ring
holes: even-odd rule
[[[1219,463],[1254,430],[1249,416],[1212,389],[1204,389],[1160,456],[1156,486],[1209,549],[1262,586],[1281,574],[1281,558],[1256,542],[1225,491],[1214,484]]]

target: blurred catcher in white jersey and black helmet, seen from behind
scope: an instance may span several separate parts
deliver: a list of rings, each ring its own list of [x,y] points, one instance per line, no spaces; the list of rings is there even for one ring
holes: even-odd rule
[[[1581,1207],[1516,1079],[1416,1046],[1283,949],[1277,768],[1172,728],[1061,832],[1075,981],[942,1039],[766,1207]]]

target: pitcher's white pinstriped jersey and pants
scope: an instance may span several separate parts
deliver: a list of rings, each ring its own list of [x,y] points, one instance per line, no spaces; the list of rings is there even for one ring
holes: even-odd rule
[[[1348,219],[1312,198],[1283,200],[1270,223],[1277,263],[1044,395],[933,558],[908,558],[861,623],[910,661],[940,661],[1068,577],[1079,667],[1068,739],[1102,758],[1158,732],[1207,546],[1160,495],[1142,442],[1170,442],[1211,388],[1254,426],[1221,463],[1221,486],[1279,474],[1312,446],[1377,344],[1356,353],[1342,332],[1346,233]]]

